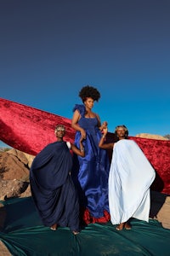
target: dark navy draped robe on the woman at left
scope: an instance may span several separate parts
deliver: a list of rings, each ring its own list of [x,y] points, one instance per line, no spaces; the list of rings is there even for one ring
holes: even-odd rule
[[[45,226],[79,230],[79,203],[71,179],[72,156],[65,142],[50,143],[33,160],[31,195]]]

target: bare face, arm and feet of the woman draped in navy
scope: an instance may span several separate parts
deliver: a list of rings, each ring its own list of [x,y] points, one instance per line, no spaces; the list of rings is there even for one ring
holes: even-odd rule
[[[55,136],[57,138],[57,142],[62,142],[63,141],[63,137],[65,137],[65,129],[59,127],[57,130],[55,130]],[[83,145],[82,145],[82,141],[83,141],[83,137],[81,137],[80,141],[79,141],[80,149],[77,148],[73,143],[71,143],[71,150],[75,154],[78,154],[78,155],[84,157],[85,156],[85,152],[84,152],[84,148],[83,148]],[[57,224],[53,224],[51,226],[51,230],[57,230]],[[73,232],[74,235],[77,235],[79,233],[76,230],[72,231],[72,232]]]

